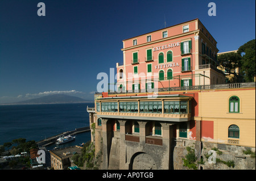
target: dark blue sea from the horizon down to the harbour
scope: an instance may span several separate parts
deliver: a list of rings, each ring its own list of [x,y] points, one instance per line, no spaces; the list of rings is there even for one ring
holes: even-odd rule
[[[16,138],[40,141],[76,128],[89,127],[87,106],[94,107],[94,103],[0,106],[0,145]],[[74,136],[75,141],[59,145],[59,148],[90,141],[90,132]],[[55,147],[56,145],[52,144],[47,149]]]

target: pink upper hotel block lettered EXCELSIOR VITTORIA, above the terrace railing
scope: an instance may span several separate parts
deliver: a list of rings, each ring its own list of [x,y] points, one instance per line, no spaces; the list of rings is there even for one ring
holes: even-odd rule
[[[225,83],[217,69],[216,44],[199,19],[123,40],[123,65],[117,63],[118,91]]]

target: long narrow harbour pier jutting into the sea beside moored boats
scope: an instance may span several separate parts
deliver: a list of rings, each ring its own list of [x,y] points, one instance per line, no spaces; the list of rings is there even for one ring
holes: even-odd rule
[[[61,136],[67,136],[69,134],[73,135],[73,134],[78,134],[78,133],[88,132],[88,131],[90,131],[90,127],[76,128],[73,131],[63,132],[63,133],[57,134],[56,136],[48,137],[44,140],[36,142],[36,144],[40,147],[44,147],[44,146],[54,144],[56,142],[57,138],[59,138]]]

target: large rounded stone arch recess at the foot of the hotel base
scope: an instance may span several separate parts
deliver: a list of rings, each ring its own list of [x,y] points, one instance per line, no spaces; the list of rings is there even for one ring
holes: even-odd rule
[[[156,165],[154,159],[147,153],[138,152],[131,157],[131,170],[155,170]]]

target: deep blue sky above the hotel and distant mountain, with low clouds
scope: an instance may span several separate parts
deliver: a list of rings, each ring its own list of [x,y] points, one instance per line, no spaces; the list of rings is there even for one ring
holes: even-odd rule
[[[38,16],[39,2],[46,16]],[[216,16],[208,3],[216,3]],[[93,100],[122,40],[199,18],[220,52],[255,39],[255,1],[0,1],[0,103],[65,93]]]

